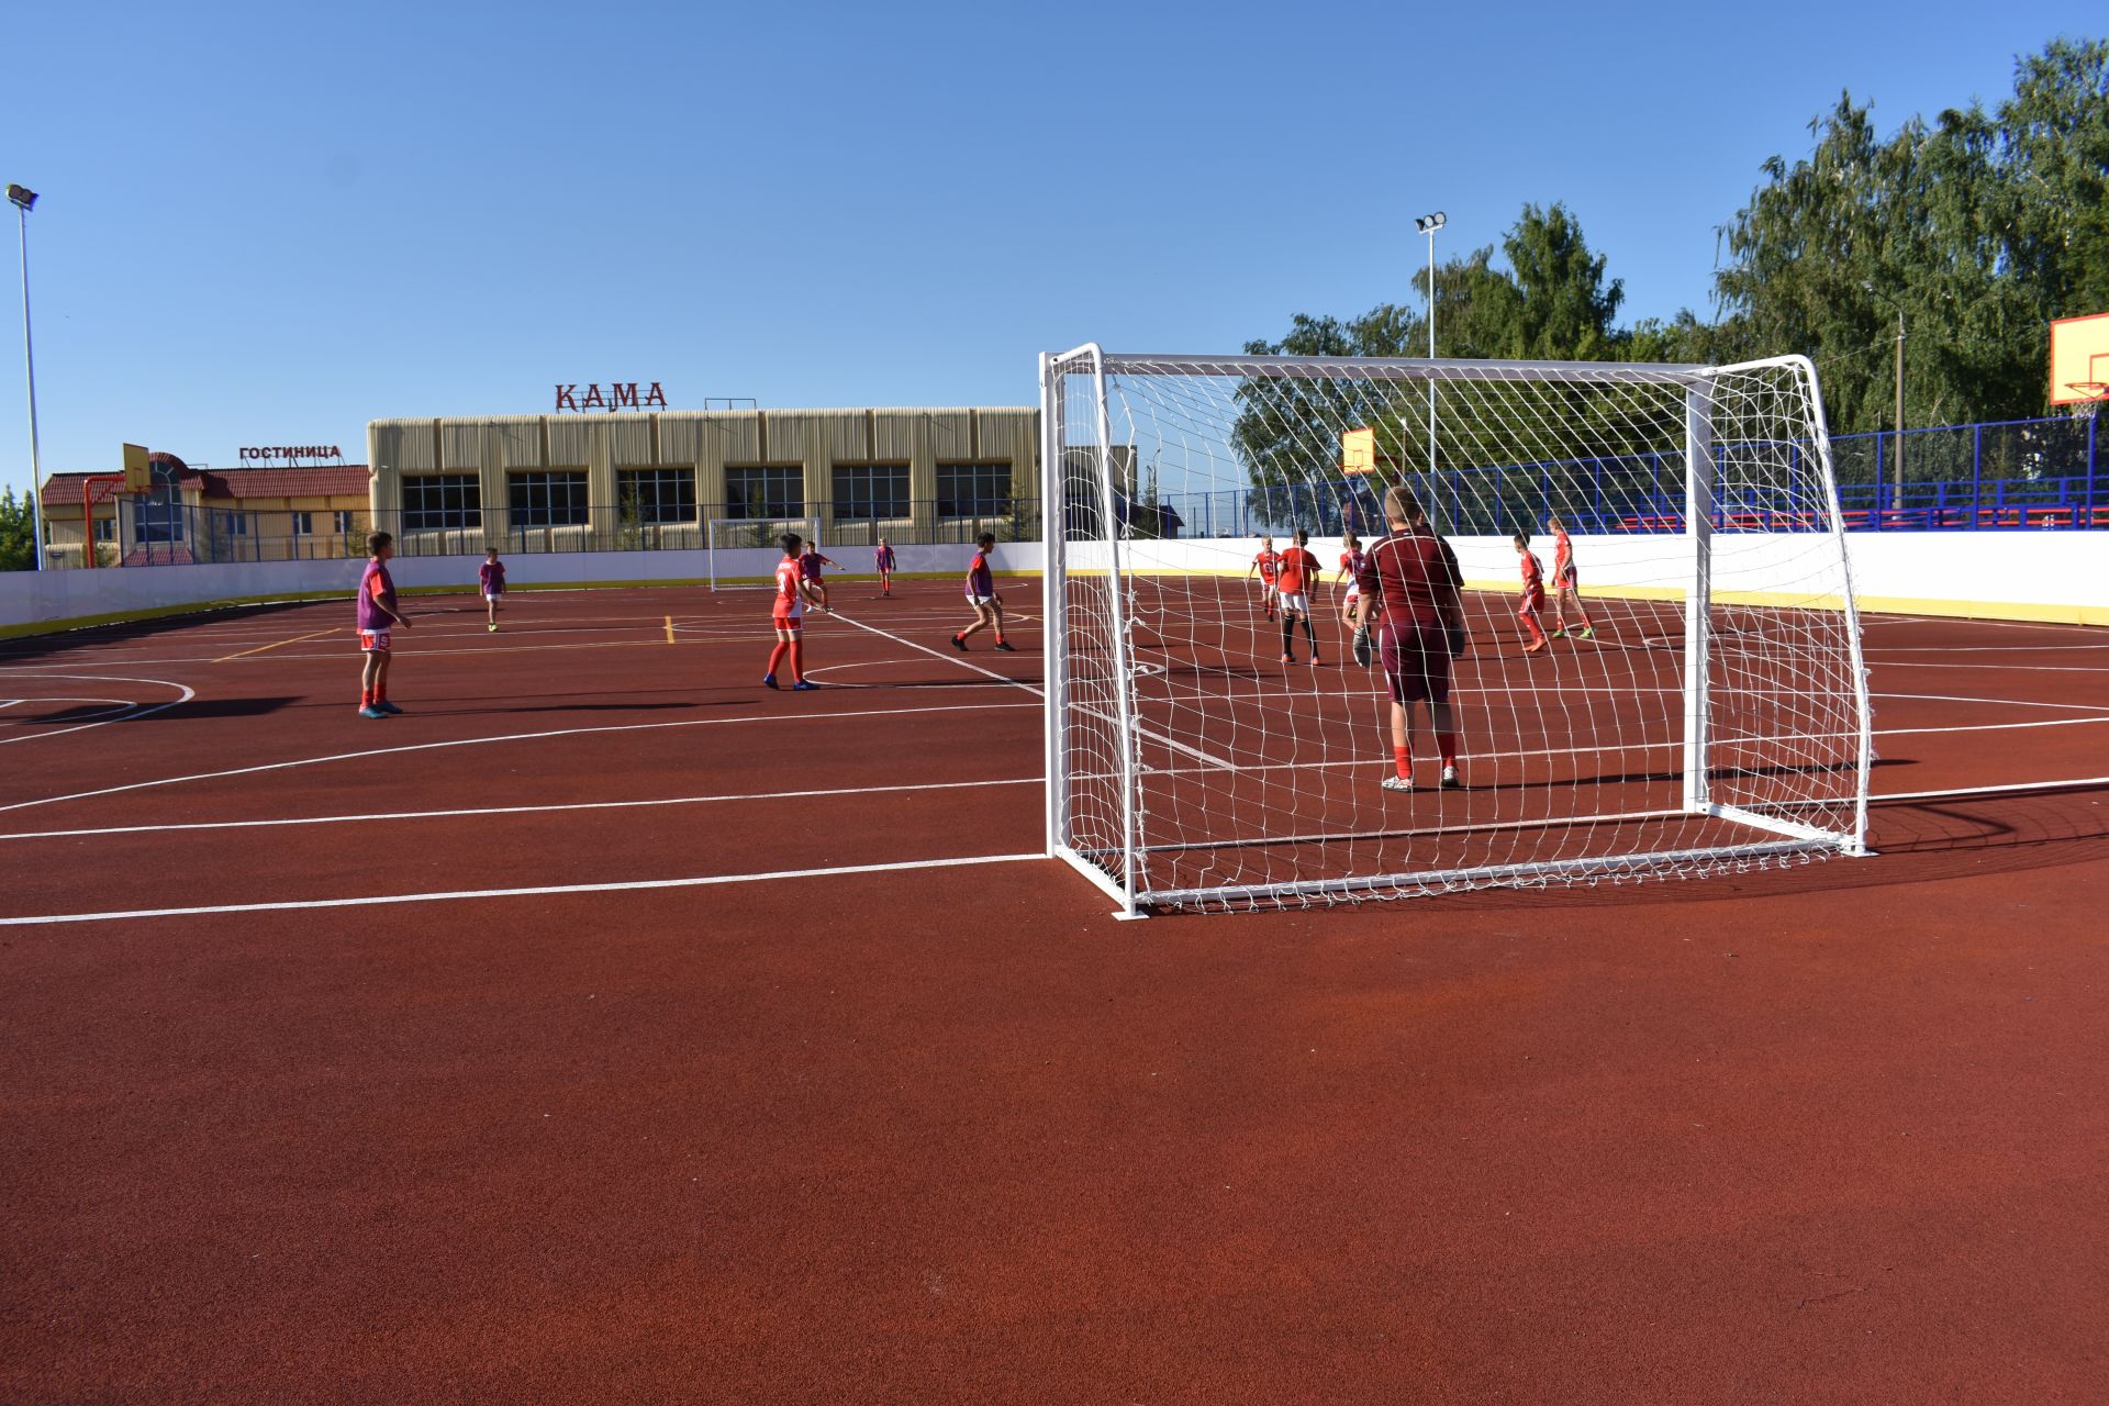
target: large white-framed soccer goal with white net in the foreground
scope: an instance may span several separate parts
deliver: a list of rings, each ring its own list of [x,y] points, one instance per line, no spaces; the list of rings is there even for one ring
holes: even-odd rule
[[[1042,358],[1048,852],[1122,913],[1864,854],[1860,622],[1814,367]],[[1341,616],[1398,487],[1462,573],[1457,788]],[[1525,556],[1575,588],[1525,651]],[[1303,620],[1265,540],[1308,533]],[[1586,620],[1586,626],[1582,624]],[[1293,656],[1297,662],[1282,662]],[[1322,662],[1312,662],[1312,656]],[[1396,658],[1396,656],[1394,656]],[[1396,786],[1398,782],[1394,782]]]

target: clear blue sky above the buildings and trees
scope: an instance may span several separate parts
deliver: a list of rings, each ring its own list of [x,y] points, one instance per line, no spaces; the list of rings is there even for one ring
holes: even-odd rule
[[[1763,19],[1759,27],[1755,21]],[[2084,6],[17,6],[44,472],[382,415],[1025,405],[1036,352],[1221,352],[1565,200],[1626,318],[1841,89],[1997,99]],[[13,211],[6,211],[13,215]],[[0,481],[30,479],[0,287]],[[1786,348],[1782,348],[1786,350]]]

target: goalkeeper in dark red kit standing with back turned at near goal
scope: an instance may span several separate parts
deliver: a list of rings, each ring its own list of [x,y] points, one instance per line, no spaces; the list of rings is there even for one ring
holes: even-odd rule
[[[1392,691],[1392,776],[1386,790],[1413,790],[1413,704],[1428,704],[1428,721],[1443,755],[1443,788],[1457,778],[1457,717],[1451,708],[1451,660],[1466,651],[1464,575],[1449,542],[1434,535],[1419,500],[1407,489],[1384,495],[1392,531],[1371,544],[1362,565],[1362,618],[1377,622],[1377,656]]]

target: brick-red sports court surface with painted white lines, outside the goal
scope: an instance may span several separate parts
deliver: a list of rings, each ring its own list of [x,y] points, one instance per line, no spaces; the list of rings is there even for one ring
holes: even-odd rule
[[[0,643],[0,1398],[2109,1398],[2101,632],[1873,620],[1873,860],[1114,923],[1031,586],[835,592]]]

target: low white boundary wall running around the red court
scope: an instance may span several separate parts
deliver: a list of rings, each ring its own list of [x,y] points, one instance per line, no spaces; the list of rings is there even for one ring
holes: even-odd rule
[[[1506,538],[1453,538],[1459,565],[1476,586],[1512,588],[1516,552]],[[1753,538],[1721,533],[1715,540],[1717,578],[1727,590],[1759,580],[1746,552],[1805,550],[1807,538]],[[2008,616],[2109,624],[2109,533],[2101,531],[1938,531],[1852,533],[1854,584],[1869,611],[1928,611],[1953,616]],[[1280,538],[1276,540],[1280,546]],[[1550,540],[1533,540],[1550,561]],[[1208,542],[1135,542],[1130,561],[1181,571],[1244,575],[1259,538]],[[1664,586],[1664,563],[1683,550],[1681,538],[1575,538],[1582,590]],[[835,548],[844,571],[871,575],[871,548]],[[905,573],[964,573],[968,546],[894,548]],[[1339,540],[1312,542],[1327,580],[1339,561]],[[719,578],[766,582],[776,569],[774,548],[728,548],[717,554]],[[458,586],[475,590],[481,556],[413,556],[392,563],[399,586]],[[0,571],[0,628],[42,620],[97,620],[217,601],[278,599],[344,592],[359,584],[359,561],[259,561],[219,567],[112,567],[101,571]],[[1038,542],[995,548],[1000,573],[1040,569]],[[546,552],[506,556],[515,586],[597,582],[696,582],[709,573],[704,552]]]

